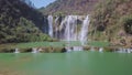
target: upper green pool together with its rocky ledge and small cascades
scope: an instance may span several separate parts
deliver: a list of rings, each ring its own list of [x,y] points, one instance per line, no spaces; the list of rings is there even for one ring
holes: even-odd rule
[[[68,50],[79,51],[80,47],[82,51],[132,53],[131,47],[112,46],[109,42],[99,41],[86,42],[85,45],[79,41],[1,44],[0,53],[64,53]]]

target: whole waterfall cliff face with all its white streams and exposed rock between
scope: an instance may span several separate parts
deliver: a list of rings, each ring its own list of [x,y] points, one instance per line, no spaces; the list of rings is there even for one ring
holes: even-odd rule
[[[63,41],[80,41],[81,45],[88,38],[89,15],[66,15],[55,17],[48,15],[48,34]],[[82,47],[73,46],[74,51],[80,51]]]

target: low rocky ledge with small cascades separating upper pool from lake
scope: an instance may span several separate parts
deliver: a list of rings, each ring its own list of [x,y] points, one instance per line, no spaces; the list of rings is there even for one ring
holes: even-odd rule
[[[76,46],[77,47],[77,46]],[[74,47],[69,47],[70,52]],[[113,52],[113,53],[132,53],[132,47],[95,47],[84,46],[82,51],[96,51],[96,52]],[[68,52],[66,47],[33,47],[33,49],[4,49],[0,50],[0,53],[65,53]]]

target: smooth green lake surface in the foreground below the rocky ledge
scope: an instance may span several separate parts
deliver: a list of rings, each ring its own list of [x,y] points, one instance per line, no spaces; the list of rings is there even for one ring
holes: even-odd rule
[[[132,54],[2,53],[0,75],[132,75]]]

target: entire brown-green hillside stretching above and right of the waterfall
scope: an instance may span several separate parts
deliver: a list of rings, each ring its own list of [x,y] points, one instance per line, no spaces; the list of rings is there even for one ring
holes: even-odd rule
[[[44,14],[90,14],[89,39],[132,46],[132,0],[56,0]]]

